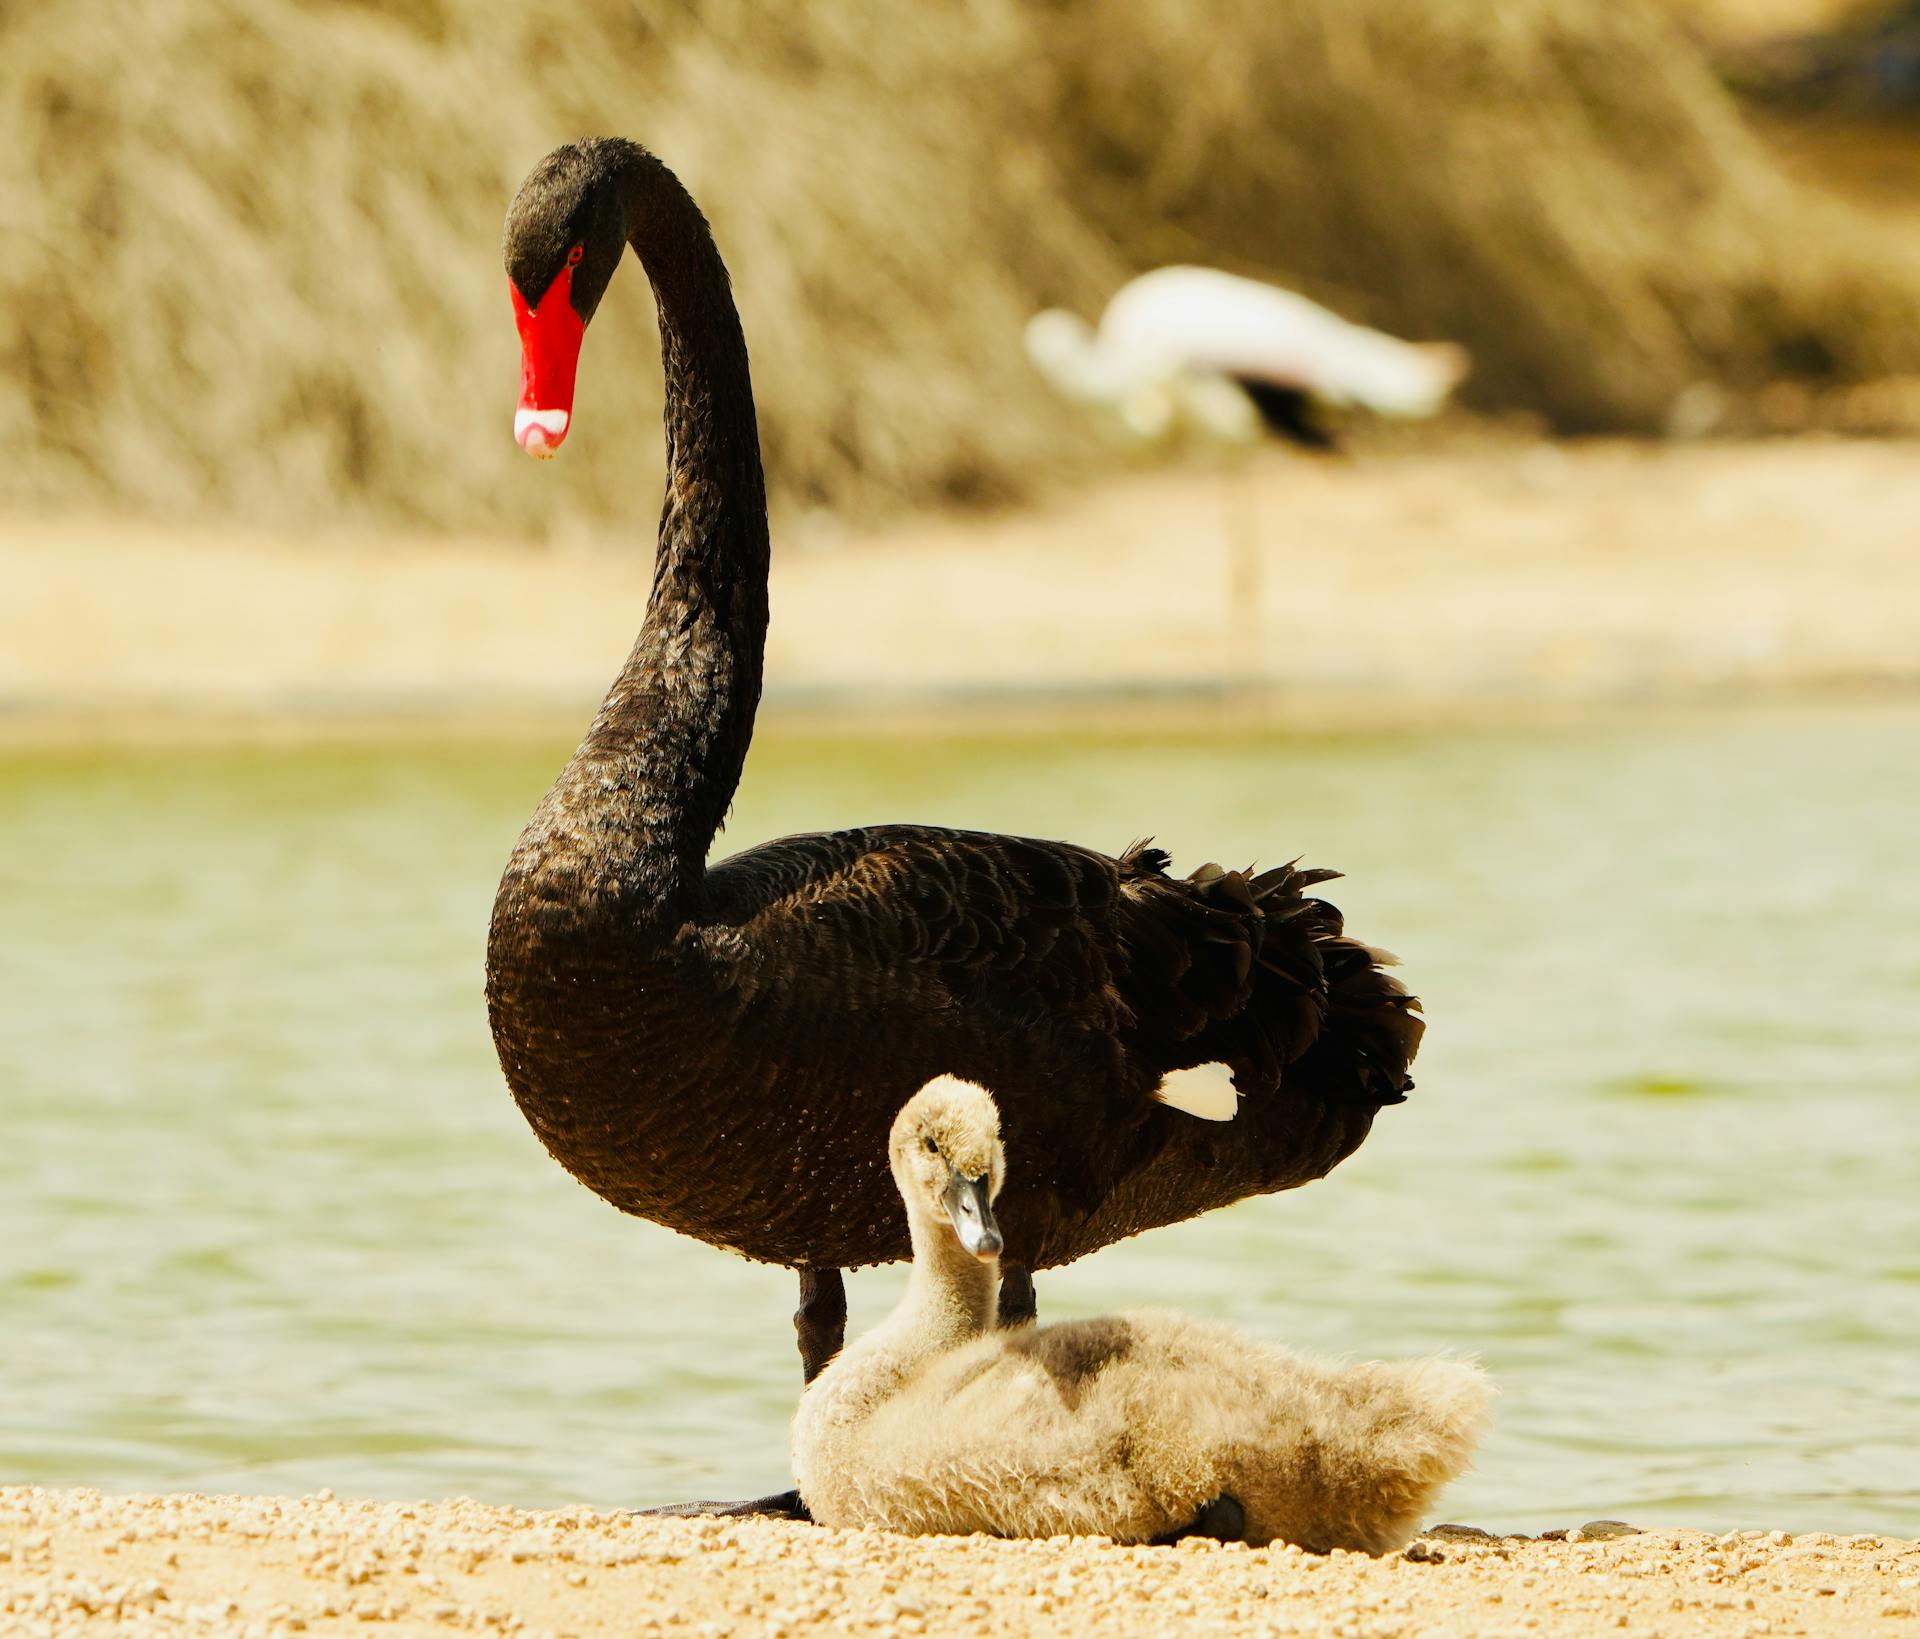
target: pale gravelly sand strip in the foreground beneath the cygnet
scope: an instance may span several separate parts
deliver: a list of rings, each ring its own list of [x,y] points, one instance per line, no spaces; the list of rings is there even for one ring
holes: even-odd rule
[[[0,1487],[0,1635],[1916,1635],[1920,1543],[1438,1528],[1386,1558]]]

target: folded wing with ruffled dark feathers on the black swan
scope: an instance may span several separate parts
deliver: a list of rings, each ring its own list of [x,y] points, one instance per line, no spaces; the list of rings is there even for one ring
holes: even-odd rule
[[[1417,1004],[1308,892],[1334,875],[1210,864],[1171,877],[1148,843],[1114,860],[885,825],[739,854],[708,871],[708,892],[741,1000],[780,1017],[964,1019],[995,1057],[1044,1059],[1117,1100],[1225,1063],[1242,1096],[1284,1075],[1392,1104],[1411,1084]],[[954,1065],[927,1065],[941,1069]]]

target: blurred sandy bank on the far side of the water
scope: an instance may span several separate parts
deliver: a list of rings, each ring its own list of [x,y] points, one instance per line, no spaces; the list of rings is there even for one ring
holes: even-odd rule
[[[0,722],[580,722],[632,541],[0,518]],[[776,535],[768,701],[1206,701],[1302,722],[1920,687],[1920,443],[1500,445],[1123,478]]]

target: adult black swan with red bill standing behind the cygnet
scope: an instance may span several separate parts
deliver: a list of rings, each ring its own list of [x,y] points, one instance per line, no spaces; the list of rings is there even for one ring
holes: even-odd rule
[[[505,257],[515,434],[551,455],[586,324],[632,246],[666,372],[645,624],[507,864],[488,1010],[547,1150],[616,1207],[801,1274],[803,1366],[841,1345],[841,1271],[908,1255],[887,1130],[927,1079],[995,1092],[1016,1167],[1002,1313],[1029,1271],[1319,1178],[1398,1104],[1421,1019],[1308,894],[1332,871],[1119,858],[876,825],[708,866],[766,639],[747,344],[699,207],[643,148],[568,144],[520,184]],[[1179,1071],[1225,1065],[1200,1121]],[[1169,1084],[1169,1073],[1175,1081]]]

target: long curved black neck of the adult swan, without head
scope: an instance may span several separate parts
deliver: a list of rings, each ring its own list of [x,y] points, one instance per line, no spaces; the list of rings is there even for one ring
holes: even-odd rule
[[[660,315],[666,503],[639,639],[555,796],[591,818],[584,887],[672,925],[699,904],[753,739],[766,484],[747,342],[707,219],[649,154],[634,150],[620,184]]]

